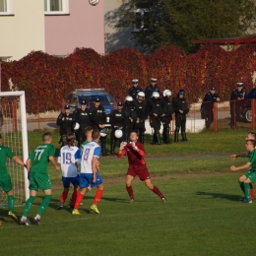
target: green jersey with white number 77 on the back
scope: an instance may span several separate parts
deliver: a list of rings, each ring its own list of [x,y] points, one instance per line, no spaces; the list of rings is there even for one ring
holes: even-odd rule
[[[51,144],[42,144],[36,147],[29,159],[32,160],[32,172],[48,173],[49,157],[55,156],[55,148]]]

